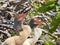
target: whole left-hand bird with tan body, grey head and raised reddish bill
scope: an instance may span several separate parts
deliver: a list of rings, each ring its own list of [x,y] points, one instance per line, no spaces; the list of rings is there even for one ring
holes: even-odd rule
[[[29,9],[28,9],[29,10]],[[6,39],[1,45],[22,45],[24,41],[28,38],[31,33],[31,27],[29,25],[24,25],[23,22],[26,18],[26,12],[21,12],[15,16],[15,31],[18,33],[16,36]],[[19,22],[19,23],[18,23]],[[17,24],[17,25],[16,25]]]

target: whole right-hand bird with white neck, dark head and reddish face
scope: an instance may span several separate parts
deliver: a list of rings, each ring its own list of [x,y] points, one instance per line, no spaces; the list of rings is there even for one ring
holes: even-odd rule
[[[40,36],[42,35],[42,30],[41,28],[38,28],[37,25],[42,24],[42,20],[40,20],[41,17],[34,17],[31,19],[29,25],[32,28],[33,36],[26,39],[23,43],[23,45],[35,45]]]

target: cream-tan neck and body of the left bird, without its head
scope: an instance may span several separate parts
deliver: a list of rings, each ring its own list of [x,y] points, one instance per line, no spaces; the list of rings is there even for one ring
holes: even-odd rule
[[[29,25],[23,25],[23,31],[19,32],[19,36],[13,36],[6,39],[1,45],[22,45],[31,33],[31,28]]]

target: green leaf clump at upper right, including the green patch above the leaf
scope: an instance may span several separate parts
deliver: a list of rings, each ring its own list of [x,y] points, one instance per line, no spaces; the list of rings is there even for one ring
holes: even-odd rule
[[[45,6],[37,8],[38,12],[44,13],[55,8],[55,2],[47,2]]]

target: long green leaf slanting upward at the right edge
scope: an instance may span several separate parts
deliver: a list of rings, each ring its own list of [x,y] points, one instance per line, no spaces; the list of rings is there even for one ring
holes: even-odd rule
[[[60,24],[60,13],[52,20],[49,32],[53,33],[58,28],[59,24]]]

